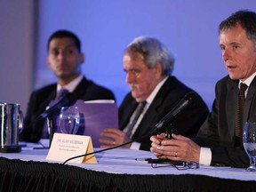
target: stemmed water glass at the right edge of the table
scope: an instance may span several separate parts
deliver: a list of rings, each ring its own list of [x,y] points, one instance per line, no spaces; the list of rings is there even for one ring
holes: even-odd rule
[[[250,166],[245,172],[256,172],[256,123],[246,122],[243,132],[244,149],[250,158]]]

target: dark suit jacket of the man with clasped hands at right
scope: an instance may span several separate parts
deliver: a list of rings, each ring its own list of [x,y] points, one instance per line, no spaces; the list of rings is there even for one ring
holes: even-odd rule
[[[248,167],[249,158],[244,147],[235,147],[235,108],[239,81],[229,76],[221,79],[215,88],[212,113],[200,128],[196,143],[211,148],[212,165],[226,164],[233,167]],[[248,88],[244,106],[245,121],[256,122],[256,78]]]

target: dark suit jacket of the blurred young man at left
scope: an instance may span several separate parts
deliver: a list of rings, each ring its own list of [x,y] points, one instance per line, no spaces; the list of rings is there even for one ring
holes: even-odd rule
[[[24,130],[20,135],[20,140],[37,142],[42,137],[44,121],[36,124],[36,117],[44,113],[45,108],[55,100],[57,94],[57,84],[50,84],[42,89],[32,92],[28,102],[27,116],[24,121]],[[113,92],[98,84],[87,80],[85,77],[74,90],[77,100],[115,100]]]

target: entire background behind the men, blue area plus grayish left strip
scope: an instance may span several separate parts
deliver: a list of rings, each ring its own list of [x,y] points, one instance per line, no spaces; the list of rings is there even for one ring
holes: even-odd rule
[[[55,81],[46,65],[46,43],[57,29],[82,40],[84,75],[116,94],[129,91],[122,66],[124,48],[136,36],[154,36],[175,54],[173,75],[199,92],[209,107],[214,84],[226,76],[217,28],[254,0],[46,0],[0,3],[0,102],[19,102],[26,112],[33,90]]]

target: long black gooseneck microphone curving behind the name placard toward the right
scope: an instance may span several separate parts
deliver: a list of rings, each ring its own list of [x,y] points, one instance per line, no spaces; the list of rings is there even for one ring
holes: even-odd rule
[[[110,149],[114,149],[114,148],[120,148],[120,147],[123,147],[124,145],[130,144],[130,143],[132,143],[134,141],[142,140],[142,139],[144,139],[144,138],[146,138],[148,136],[157,134],[157,132],[163,131],[165,126],[168,126],[172,122],[173,118],[180,114],[180,111],[184,110],[185,108],[188,108],[188,106],[190,106],[193,103],[193,100],[195,100],[195,97],[196,97],[196,93],[195,92],[188,92],[188,94],[186,94],[184,96],[184,98],[182,100],[180,100],[180,102],[174,108],[172,108],[172,110],[166,116],[164,116],[159,121],[158,124],[156,124],[153,127],[151,127],[152,130],[148,134],[146,134],[146,135],[144,135],[144,136],[142,136],[140,138],[137,138],[135,140],[130,140],[128,142],[125,142],[125,143],[123,143],[121,145],[117,145],[115,147],[103,148],[101,150],[94,151],[92,153],[83,154],[83,155],[80,155],[80,156],[70,157],[63,164],[67,164],[68,161],[73,160],[75,158],[82,157],[82,156],[90,156],[92,154],[100,153],[100,152],[103,152],[103,151],[106,151],[106,150],[110,150]]]

